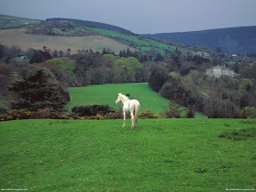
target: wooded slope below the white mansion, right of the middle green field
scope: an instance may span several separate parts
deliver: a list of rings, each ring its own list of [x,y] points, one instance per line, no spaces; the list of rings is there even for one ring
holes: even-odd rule
[[[196,70],[181,76],[168,74],[166,68],[157,66],[149,76],[148,84],[165,98],[182,106],[202,112],[212,118],[256,117],[255,79],[256,62],[244,68],[241,79],[228,76],[206,76]],[[250,73],[250,74],[247,74]]]

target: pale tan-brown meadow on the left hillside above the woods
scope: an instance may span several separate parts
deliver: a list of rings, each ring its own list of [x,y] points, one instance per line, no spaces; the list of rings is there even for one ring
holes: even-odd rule
[[[11,47],[13,44],[19,45],[26,51],[29,47],[36,50],[42,50],[47,46],[52,51],[77,52],[78,49],[102,52],[103,48],[109,48],[118,53],[120,50],[126,50],[127,45],[118,43],[104,36],[39,36],[26,34],[26,28],[0,29],[0,44],[6,44]],[[133,51],[133,49],[131,48]]]

